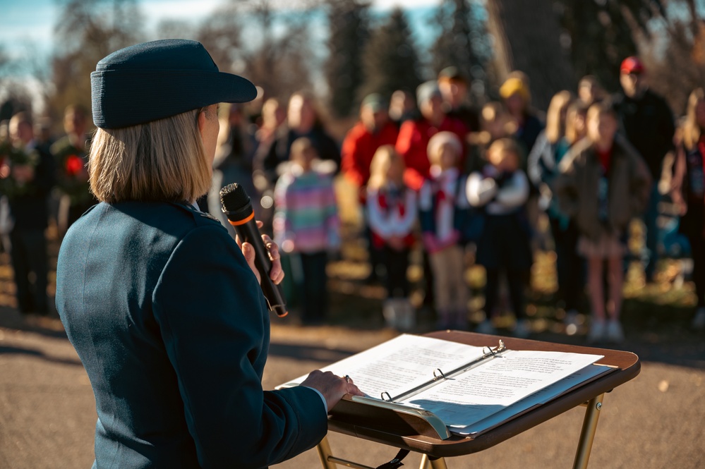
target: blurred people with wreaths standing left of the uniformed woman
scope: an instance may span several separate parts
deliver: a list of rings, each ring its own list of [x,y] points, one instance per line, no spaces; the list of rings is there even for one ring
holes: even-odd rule
[[[0,236],[10,253],[17,307],[48,315],[46,230],[61,233],[95,203],[88,185],[89,114],[68,106],[66,135],[53,140],[46,126],[21,111],[0,125]]]

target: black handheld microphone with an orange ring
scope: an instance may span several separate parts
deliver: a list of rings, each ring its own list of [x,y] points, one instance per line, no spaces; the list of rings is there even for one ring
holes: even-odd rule
[[[252,210],[250,197],[241,185],[234,183],[226,185],[220,190],[220,202],[223,213],[228,217],[228,221],[234,227],[240,240],[243,243],[250,243],[255,248],[255,267],[260,272],[260,286],[270,311],[274,311],[279,317],[286,316],[289,312],[286,302],[284,302],[282,287],[270,279],[272,261],[267,254],[267,248],[262,241],[257,222],[255,222],[255,213]]]

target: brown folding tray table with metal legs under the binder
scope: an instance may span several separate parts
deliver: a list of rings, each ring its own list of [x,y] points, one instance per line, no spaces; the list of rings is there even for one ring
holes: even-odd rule
[[[630,352],[461,331],[438,331],[425,335],[473,346],[493,347],[499,339],[502,339],[507,348],[512,350],[593,353],[604,355],[604,358],[597,362],[598,364],[610,365],[617,369],[548,401],[548,403],[532,408],[477,437],[447,434],[444,432],[445,429],[438,429],[438,426],[430,425],[423,415],[399,413],[385,408],[356,406],[350,398],[344,398],[344,401],[334,408],[332,415],[328,418],[328,430],[422,453],[420,469],[447,469],[445,458],[463,456],[488,449],[567,410],[577,406],[586,406],[582,432],[573,464],[574,469],[585,469],[590,457],[605,393],[636,377],[641,368],[639,357]],[[374,469],[333,456],[330,445],[325,438],[318,444],[317,449],[324,469],[335,469],[337,465],[357,469]]]

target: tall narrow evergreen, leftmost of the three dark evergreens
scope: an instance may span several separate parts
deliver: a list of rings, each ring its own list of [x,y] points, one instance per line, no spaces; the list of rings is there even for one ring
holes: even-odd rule
[[[330,0],[328,25],[329,56],[325,75],[330,110],[337,117],[355,109],[357,91],[363,80],[362,50],[369,36],[370,4],[361,0]]]

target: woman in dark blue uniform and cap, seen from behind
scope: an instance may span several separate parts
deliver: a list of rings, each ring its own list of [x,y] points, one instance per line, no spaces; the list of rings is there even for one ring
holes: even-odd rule
[[[56,307],[95,394],[94,467],[262,468],[315,446],[327,408],[359,391],[318,371],[263,391],[269,317],[253,247],[195,209],[217,103],[249,101],[255,87],[182,39],[110,54],[91,85],[100,203],[61,245]]]

